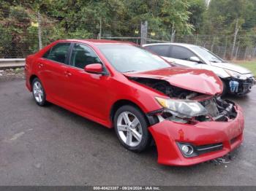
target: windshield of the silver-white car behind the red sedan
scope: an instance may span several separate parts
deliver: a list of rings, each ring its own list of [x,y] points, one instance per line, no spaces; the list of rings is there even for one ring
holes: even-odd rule
[[[193,46],[191,47],[191,49],[197,52],[197,54],[200,55],[206,61],[213,62],[213,63],[224,62],[221,58],[219,58],[219,56],[214,55],[214,53],[210,52],[206,48]]]

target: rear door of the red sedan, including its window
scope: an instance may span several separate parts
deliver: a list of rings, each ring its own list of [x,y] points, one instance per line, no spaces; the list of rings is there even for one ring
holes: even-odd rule
[[[67,62],[70,43],[58,43],[42,58],[37,67],[39,79],[45,87],[46,96],[61,103],[65,102],[67,93]]]

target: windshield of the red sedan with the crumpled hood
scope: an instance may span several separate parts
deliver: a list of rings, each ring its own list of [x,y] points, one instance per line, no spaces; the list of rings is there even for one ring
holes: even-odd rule
[[[99,50],[118,71],[149,71],[170,67],[157,55],[129,44],[101,44]]]

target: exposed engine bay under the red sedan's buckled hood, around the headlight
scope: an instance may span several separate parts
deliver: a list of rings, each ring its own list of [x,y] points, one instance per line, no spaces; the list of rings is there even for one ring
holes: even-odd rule
[[[230,121],[236,118],[236,105],[229,100],[222,100],[217,96],[204,95],[203,93],[196,93],[191,90],[184,90],[181,87],[176,87],[170,85],[169,82],[162,79],[149,79],[149,78],[140,78],[132,77],[130,78],[140,84],[146,85],[153,88],[161,93],[164,93],[170,98],[176,98],[184,101],[197,101],[199,102],[204,109],[206,109],[207,114],[184,118],[178,116],[176,112],[171,110],[164,109],[162,111],[161,117],[162,120],[172,120],[176,122],[184,123],[194,123],[194,122],[203,122],[203,121]],[[161,120],[161,117],[159,120]]]

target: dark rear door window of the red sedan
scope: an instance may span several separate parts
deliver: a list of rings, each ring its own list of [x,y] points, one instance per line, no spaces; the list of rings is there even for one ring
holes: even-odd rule
[[[59,43],[51,48],[50,52],[46,52],[43,58],[47,58],[59,63],[65,63],[70,43]]]

